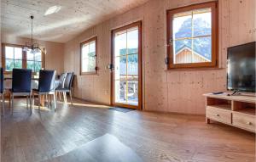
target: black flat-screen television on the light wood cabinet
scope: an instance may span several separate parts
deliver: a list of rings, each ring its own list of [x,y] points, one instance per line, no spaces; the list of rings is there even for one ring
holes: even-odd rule
[[[255,92],[255,44],[249,42],[228,48],[228,90]]]

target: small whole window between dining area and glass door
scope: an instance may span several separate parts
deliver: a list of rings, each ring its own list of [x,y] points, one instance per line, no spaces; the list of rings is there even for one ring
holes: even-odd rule
[[[96,43],[96,37],[93,37],[90,40],[81,43],[81,75],[96,74]]]

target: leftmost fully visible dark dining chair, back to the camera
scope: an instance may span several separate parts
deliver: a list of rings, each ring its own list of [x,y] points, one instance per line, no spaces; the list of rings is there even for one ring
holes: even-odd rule
[[[13,69],[11,95],[11,114],[14,114],[14,98],[15,96],[26,96],[26,108],[28,108],[28,98],[30,110],[32,113],[32,98],[31,98],[31,80],[32,70]]]

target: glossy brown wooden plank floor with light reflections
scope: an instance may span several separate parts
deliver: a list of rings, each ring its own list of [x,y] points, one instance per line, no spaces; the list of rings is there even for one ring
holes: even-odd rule
[[[2,117],[3,162],[255,161],[253,133],[203,116],[123,113],[79,100],[30,115],[26,100],[15,103],[14,115]]]

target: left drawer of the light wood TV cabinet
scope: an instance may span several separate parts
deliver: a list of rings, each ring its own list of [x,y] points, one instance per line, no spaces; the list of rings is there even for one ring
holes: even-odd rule
[[[229,110],[207,106],[207,118],[231,124],[231,112]]]

